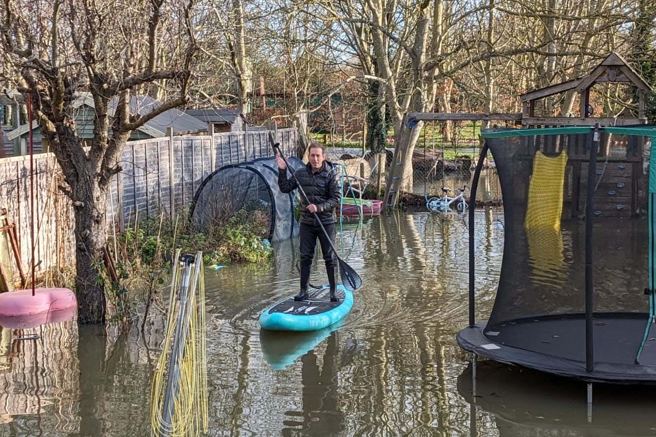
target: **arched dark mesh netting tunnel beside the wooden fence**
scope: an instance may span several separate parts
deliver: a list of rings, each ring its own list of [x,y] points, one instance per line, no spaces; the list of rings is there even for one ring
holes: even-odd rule
[[[302,168],[300,159],[289,164]],[[223,166],[205,178],[194,196],[192,220],[199,229],[223,225],[237,216],[249,219],[262,237],[273,242],[298,235],[295,193],[281,193],[274,158]]]

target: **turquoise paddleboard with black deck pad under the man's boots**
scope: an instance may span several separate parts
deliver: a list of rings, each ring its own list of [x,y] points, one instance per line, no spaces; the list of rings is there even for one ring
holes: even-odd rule
[[[316,331],[344,318],[353,307],[353,294],[337,286],[338,302],[331,302],[330,288],[308,289],[309,299],[295,301],[289,297],[260,314],[260,326],[274,331]]]

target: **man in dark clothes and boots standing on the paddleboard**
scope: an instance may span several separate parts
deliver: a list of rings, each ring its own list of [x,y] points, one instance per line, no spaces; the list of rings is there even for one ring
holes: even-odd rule
[[[319,238],[330,284],[330,299],[338,302],[337,256],[312,214],[316,212],[331,241],[335,244],[335,208],[339,205],[341,197],[337,185],[337,167],[325,160],[325,149],[319,143],[310,143],[308,157],[310,162],[305,168],[296,172],[298,183],[312,203],[305,204],[303,199],[300,201],[300,292],[294,296],[294,300],[308,299],[310,269],[314,258],[314,248],[316,248],[317,238]],[[295,180],[287,179],[287,165],[278,154],[276,154],[276,164],[278,165],[280,191],[291,193],[297,189],[297,184]]]

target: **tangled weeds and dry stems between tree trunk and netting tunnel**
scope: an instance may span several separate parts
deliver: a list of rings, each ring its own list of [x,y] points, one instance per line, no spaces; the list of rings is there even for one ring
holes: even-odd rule
[[[114,310],[112,319],[134,320],[142,313],[144,330],[153,307],[165,313],[160,290],[169,281],[171,258],[178,248],[183,254],[203,252],[206,267],[260,263],[272,256],[270,244],[260,237],[268,234],[268,219],[264,214],[240,210],[231,218],[202,230],[196,229],[189,217],[186,207],[173,220],[163,214],[136,219],[128,229],[115,235],[110,242],[115,275],[100,269],[105,272],[100,280]]]

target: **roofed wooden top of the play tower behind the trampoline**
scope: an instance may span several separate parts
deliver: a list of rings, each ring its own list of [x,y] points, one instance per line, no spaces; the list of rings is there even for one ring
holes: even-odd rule
[[[588,117],[590,88],[596,83],[625,83],[638,88],[638,117]],[[578,117],[535,117],[535,102],[560,92],[575,90],[579,93]],[[622,56],[611,52],[601,64],[585,76],[571,81],[546,86],[522,94],[522,124],[525,126],[586,126],[599,123],[602,126],[647,123],[645,118],[645,93],[651,86],[626,62]]]

